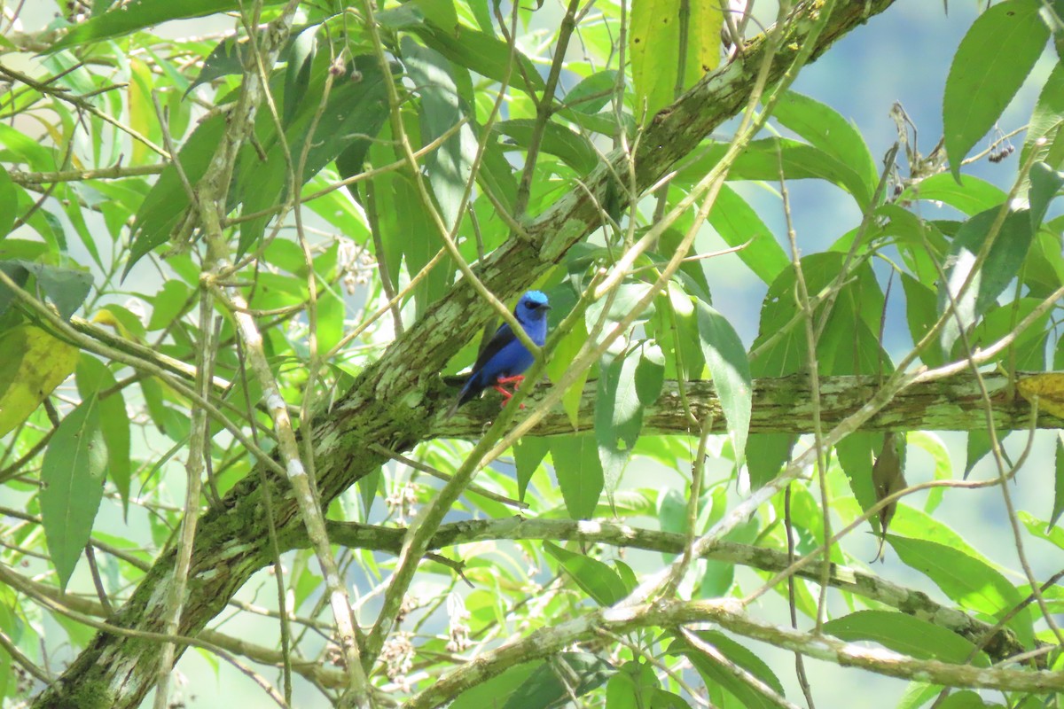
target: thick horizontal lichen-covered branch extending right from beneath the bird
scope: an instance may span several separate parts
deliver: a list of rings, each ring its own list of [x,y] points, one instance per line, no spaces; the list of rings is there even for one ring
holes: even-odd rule
[[[876,392],[876,376],[820,377],[820,418],[826,427],[837,425],[863,406]],[[1031,405],[1019,395],[1013,395],[1009,377],[1004,374],[984,374],[983,381],[994,404],[994,424],[999,431],[1026,431],[1031,427]],[[549,385],[544,385],[546,389]],[[713,433],[727,433],[727,419],[712,382],[684,384],[692,413],[699,420],[706,415],[713,423]],[[592,431],[595,421],[597,383],[584,385],[580,403],[579,431]],[[452,395],[448,391],[447,395]],[[445,396],[446,398],[446,396]],[[534,399],[533,399],[534,401]],[[982,408],[982,394],[975,376],[965,373],[948,379],[917,383],[874,416],[862,431],[985,431],[986,412]],[[484,419],[498,412],[492,395],[482,402],[466,406],[459,415],[440,421],[433,428],[439,438],[479,438],[484,429]],[[526,413],[518,415],[518,421]],[[1061,428],[1064,421],[1049,413],[1038,415],[1037,427]],[[677,382],[666,382],[658,401],[643,415],[644,434],[692,434],[687,411],[680,400]],[[753,382],[753,412],[751,434],[809,434],[813,432],[813,401],[809,377],[804,374]],[[572,434],[568,416],[552,411],[532,434],[553,436]]]

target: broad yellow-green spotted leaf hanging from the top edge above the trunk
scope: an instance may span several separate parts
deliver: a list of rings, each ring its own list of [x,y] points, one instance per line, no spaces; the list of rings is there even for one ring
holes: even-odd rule
[[[720,63],[718,0],[689,0],[687,52],[681,90],[695,85]],[[680,65],[680,0],[636,0],[632,3],[629,50],[635,82],[637,116],[653,116],[676,98]],[[646,114],[643,105],[646,103]]]

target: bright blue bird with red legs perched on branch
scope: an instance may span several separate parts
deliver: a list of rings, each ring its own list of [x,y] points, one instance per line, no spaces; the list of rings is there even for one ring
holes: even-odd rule
[[[547,341],[547,310],[550,304],[547,297],[538,290],[530,290],[517,302],[514,308],[514,317],[521,323],[529,338],[543,347]],[[495,331],[495,335],[488,341],[487,347],[477,357],[477,362],[472,366],[472,373],[466,379],[458,401],[451,406],[447,416],[453,416],[459,406],[468,401],[472,401],[480,395],[487,387],[494,387],[505,399],[502,405],[513,399],[514,394],[508,391],[503,385],[513,384],[519,386],[525,379],[523,372],[532,366],[534,361],[532,353],[521,344],[521,341],[514,335],[508,323]]]

